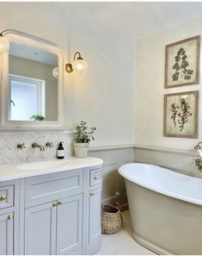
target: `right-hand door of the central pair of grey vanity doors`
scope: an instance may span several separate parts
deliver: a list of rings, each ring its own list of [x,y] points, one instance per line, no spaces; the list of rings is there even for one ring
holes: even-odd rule
[[[57,254],[82,247],[83,195],[58,200]]]

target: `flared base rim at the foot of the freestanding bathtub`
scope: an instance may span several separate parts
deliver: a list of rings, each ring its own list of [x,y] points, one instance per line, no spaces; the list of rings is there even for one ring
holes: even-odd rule
[[[132,238],[138,242],[140,246],[143,246],[147,249],[149,249],[151,252],[154,252],[159,255],[172,255],[176,254],[171,251],[168,251],[162,247],[157,246],[156,244],[150,242],[149,240],[146,240],[139,236],[138,234],[135,234],[134,230],[132,230]]]

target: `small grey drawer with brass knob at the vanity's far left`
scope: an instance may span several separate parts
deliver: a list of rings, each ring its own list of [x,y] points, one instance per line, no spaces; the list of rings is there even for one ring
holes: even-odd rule
[[[0,209],[14,206],[14,185],[0,186]]]

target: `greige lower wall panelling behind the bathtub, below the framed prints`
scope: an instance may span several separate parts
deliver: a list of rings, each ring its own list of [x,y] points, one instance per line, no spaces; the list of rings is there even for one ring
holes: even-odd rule
[[[134,160],[152,165],[159,165],[175,172],[181,172],[197,178],[202,178],[202,172],[194,165],[193,159],[199,158],[197,153],[165,152],[148,148],[134,148]]]

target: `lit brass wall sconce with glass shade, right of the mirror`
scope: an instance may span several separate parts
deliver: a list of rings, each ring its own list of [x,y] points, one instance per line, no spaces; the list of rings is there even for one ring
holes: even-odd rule
[[[76,55],[78,55],[77,59],[76,59]],[[83,70],[85,70],[87,68],[88,68],[88,64],[85,60],[83,60],[81,53],[79,53],[79,52],[76,52],[74,54],[73,64],[67,63],[65,65],[65,70],[68,73],[71,73],[73,71],[82,73]]]

